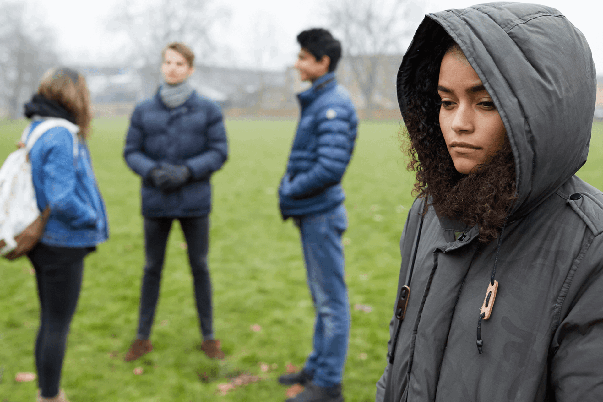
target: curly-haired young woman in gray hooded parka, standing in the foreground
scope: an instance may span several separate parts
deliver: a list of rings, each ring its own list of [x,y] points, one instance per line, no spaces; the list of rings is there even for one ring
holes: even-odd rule
[[[428,14],[397,79],[417,199],[378,402],[603,400],[595,66],[554,8]]]

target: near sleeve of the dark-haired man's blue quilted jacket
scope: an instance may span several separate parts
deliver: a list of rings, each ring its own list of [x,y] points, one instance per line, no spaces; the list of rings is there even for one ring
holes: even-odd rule
[[[341,181],[354,147],[352,129],[356,125],[355,113],[344,105],[322,108],[315,123],[317,135],[317,161],[306,172],[282,183],[283,195],[294,199],[318,195],[327,187]]]

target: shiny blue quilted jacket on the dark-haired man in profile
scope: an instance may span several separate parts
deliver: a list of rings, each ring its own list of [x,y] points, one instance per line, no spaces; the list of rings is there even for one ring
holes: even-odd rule
[[[341,178],[358,126],[350,95],[337,84],[335,72],[318,78],[297,97],[301,117],[279,187],[283,219],[325,212],[343,203]]]

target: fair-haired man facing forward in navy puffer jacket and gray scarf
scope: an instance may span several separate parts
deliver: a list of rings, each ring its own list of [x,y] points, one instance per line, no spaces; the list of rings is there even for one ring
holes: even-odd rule
[[[219,107],[187,82],[195,71],[191,49],[175,42],[166,46],[162,56],[165,84],[153,98],[136,105],[125,139],[125,162],[142,178],[146,265],[136,340],[124,359],[136,360],[153,350],[149,338],[174,219],[180,221],[191,263],[203,335],[201,350],[211,358],[223,359],[220,342],[213,338],[207,251],[209,180],[227,159],[226,131]]]

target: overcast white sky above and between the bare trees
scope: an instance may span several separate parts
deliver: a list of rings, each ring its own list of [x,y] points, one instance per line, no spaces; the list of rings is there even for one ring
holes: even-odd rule
[[[0,0],[1,1],[1,0]],[[127,48],[123,34],[106,29],[116,4],[120,0],[26,0],[30,12],[54,28],[62,55],[68,63],[111,64],[121,58]],[[423,13],[464,8],[478,3],[475,0],[416,0]],[[525,1],[529,2],[529,1]],[[542,0],[534,1],[560,10],[584,33],[593,52],[599,75],[603,75],[603,1],[601,0]],[[218,42],[226,42],[234,50],[239,66],[253,66],[250,37],[260,20],[274,31],[274,44],[280,51],[266,64],[280,69],[294,62],[297,52],[295,36],[308,27],[324,24],[324,0],[215,0],[230,8],[229,26],[221,32]],[[420,22],[417,16],[417,22]]]

